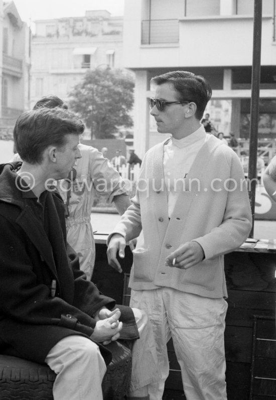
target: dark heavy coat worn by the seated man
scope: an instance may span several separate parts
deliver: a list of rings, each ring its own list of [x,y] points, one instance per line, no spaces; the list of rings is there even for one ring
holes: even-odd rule
[[[89,337],[96,324],[93,315],[103,306],[112,309],[115,301],[102,296],[80,271],[78,257],[66,242],[60,195],[47,193],[52,227],[47,236],[25,192],[17,188],[17,166],[0,166],[0,352],[44,362],[62,338]],[[126,308],[126,314],[131,334],[137,333],[131,309]],[[99,347],[110,362],[109,351]]]

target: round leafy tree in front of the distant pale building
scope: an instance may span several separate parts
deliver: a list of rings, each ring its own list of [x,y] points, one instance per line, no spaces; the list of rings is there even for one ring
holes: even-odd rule
[[[132,75],[118,68],[95,68],[69,93],[70,108],[91,128],[91,139],[113,138],[119,127],[131,127]]]

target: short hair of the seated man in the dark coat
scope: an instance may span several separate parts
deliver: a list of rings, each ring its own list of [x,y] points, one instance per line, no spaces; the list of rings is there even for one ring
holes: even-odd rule
[[[14,141],[23,161],[40,164],[48,146],[62,147],[66,135],[81,135],[83,122],[64,108],[41,107],[23,112],[14,128]]]

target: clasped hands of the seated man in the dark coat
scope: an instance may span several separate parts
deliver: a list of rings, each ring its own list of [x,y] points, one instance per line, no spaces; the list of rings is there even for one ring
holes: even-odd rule
[[[107,309],[102,309],[99,312],[99,318],[104,316]],[[90,336],[91,339],[104,345],[111,341],[117,340],[120,337],[120,330],[122,329],[122,322],[119,322],[121,313],[118,309],[107,312],[111,313],[111,316],[104,319],[99,319],[96,322],[94,332]],[[108,313],[107,313],[108,314]]]

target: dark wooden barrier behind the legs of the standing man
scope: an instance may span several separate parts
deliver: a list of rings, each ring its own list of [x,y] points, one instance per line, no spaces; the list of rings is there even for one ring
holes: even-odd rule
[[[104,250],[97,247],[96,253],[99,251],[104,255],[100,258],[100,264],[97,264],[96,259],[92,281],[96,278],[96,283],[98,281],[100,284],[99,289],[105,295],[114,298],[115,294],[119,302],[128,305],[128,276],[132,265],[132,253],[127,251],[125,258],[120,260],[124,274],[115,271],[107,274],[107,269],[111,268],[107,264],[106,247]],[[273,380],[276,378],[276,254],[234,251],[226,254],[224,260],[228,289],[224,336],[228,400],[248,400],[249,396],[250,400],[276,399]],[[257,339],[253,335],[254,329]],[[168,354],[170,375],[166,381],[164,399],[185,399],[180,367],[172,341],[168,343]]]

